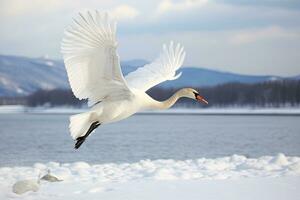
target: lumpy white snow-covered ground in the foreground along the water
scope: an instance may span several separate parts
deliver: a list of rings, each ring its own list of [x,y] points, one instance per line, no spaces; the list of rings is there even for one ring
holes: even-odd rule
[[[41,181],[37,192],[17,195],[12,185],[47,169],[61,182]],[[0,199],[300,199],[300,157],[230,157],[142,160],[89,165],[36,163],[0,168]]]

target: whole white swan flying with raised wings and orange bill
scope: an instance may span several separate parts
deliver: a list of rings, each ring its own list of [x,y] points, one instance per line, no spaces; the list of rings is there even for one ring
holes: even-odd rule
[[[176,75],[185,57],[180,44],[164,45],[154,62],[124,77],[117,53],[116,23],[106,13],[79,13],[65,31],[61,51],[74,95],[88,99],[91,106],[88,112],[70,117],[76,149],[99,125],[122,120],[140,110],[167,109],[181,97],[207,104],[192,88],[181,89],[163,102],[146,94],[153,86],[181,75]]]

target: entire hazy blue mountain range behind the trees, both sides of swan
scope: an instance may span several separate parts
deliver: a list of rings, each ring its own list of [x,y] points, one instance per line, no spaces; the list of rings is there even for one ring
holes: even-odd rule
[[[145,60],[121,62],[124,75],[147,64]],[[220,72],[200,67],[183,67],[182,75],[161,87],[203,87],[228,82],[257,83],[284,79],[279,76],[252,76]],[[299,76],[290,79],[300,79]],[[0,96],[28,95],[38,89],[69,88],[64,64],[47,58],[27,58],[0,55]]]

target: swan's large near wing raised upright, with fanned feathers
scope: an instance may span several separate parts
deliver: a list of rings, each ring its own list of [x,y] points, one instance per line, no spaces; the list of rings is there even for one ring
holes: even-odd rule
[[[106,13],[79,13],[66,29],[61,50],[77,98],[93,105],[104,98],[131,95],[116,48],[116,23]]]

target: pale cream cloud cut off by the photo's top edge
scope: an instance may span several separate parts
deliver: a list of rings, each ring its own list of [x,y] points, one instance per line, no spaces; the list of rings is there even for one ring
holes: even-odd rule
[[[182,11],[190,8],[201,7],[208,3],[208,0],[183,0],[180,2],[173,2],[172,0],[163,0],[157,7],[158,13],[165,13],[168,11]]]

